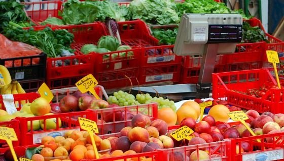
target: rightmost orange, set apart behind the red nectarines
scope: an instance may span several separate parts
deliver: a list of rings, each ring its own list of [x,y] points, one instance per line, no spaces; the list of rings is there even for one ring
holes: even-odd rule
[[[217,104],[212,106],[209,110],[208,115],[212,116],[215,121],[222,121],[227,123],[230,119],[228,113],[230,110],[223,104]]]

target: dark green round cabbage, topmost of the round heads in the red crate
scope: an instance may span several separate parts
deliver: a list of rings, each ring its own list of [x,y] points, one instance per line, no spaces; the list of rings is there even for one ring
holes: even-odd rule
[[[115,51],[119,46],[120,42],[113,36],[101,36],[98,40],[98,48],[106,48],[110,51]]]

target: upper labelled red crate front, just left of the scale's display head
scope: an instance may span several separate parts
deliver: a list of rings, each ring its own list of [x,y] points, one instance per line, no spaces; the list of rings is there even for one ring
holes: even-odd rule
[[[173,45],[150,46],[141,48],[141,67],[153,67],[182,63],[182,56],[176,56]]]

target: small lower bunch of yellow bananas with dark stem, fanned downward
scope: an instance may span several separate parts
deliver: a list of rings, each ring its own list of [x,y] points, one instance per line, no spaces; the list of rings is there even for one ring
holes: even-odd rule
[[[21,84],[16,80],[12,79],[10,83],[5,84],[1,90],[0,94],[21,94],[25,93],[25,90],[22,88]]]

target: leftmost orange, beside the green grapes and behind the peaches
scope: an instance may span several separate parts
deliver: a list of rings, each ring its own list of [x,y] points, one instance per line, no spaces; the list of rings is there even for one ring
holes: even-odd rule
[[[177,121],[176,113],[169,107],[158,110],[158,119],[167,123],[168,126],[174,126]]]

